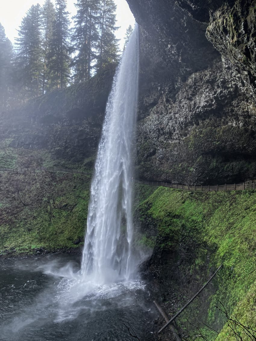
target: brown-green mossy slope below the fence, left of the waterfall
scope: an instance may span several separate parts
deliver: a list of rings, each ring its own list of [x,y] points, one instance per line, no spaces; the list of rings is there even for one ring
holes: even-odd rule
[[[83,241],[89,177],[26,172],[0,174],[0,183],[1,253],[73,248]]]

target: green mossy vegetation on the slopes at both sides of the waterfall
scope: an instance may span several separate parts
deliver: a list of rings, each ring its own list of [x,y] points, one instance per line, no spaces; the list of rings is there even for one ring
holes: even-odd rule
[[[24,155],[16,151],[15,162],[19,163]],[[42,153],[31,152],[30,162],[52,164],[51,155]],[[81,245],[90,180],[47,172],[0,174],[0,252],[29,254],[40,247],[54,251]],[[135,185],[134,217],[140,222],[135,243],[144,250],[155,247],[155,253],[160,251],[166,282],[170,266],[188,276],[190,284],[185,288],[173,280],[170,284],[170,290],[181,297],[178,304],[224,263],[204,296],[180,316],[177,324],[181,330],[187,319],[193,322],[198,318],[218,330],[224,325],[218,341],[235,340],[224,314],[215,307],[219,301],[229,315],[256,329],[255,212],[253,191],[201,193]],[[214,336],[207,327],[203,332],[209,339]]]

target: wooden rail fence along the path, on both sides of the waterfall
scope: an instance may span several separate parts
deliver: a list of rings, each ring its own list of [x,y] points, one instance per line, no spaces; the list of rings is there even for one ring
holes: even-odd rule
[[[0,168],[0,172],[9,172],[9,173],[20,173],[25,170],[30,170],[32,172],[61,172],[61,173],[71,173],[71,174],[82,174],[92,176],[91,172],[84,172],[78,169],[68,169],[68,168],[58,168],[58,167],[37,167],[37,168]],[[183,191],[194,191],[194,192],[217,192],[217,191],[244,191],[244,190],[254,190],[255,191],[255,182],[252,183],[234,183],[234,184],[224,184],[224,185],[208,185],[208,186],[196,186],[196,185],[185,185],[178,183],[168,183],[165,181],[145,181],[145,180],[132,180],[135,183],[140,183],[148,186],[163,186],[174,189],[180,189]]]

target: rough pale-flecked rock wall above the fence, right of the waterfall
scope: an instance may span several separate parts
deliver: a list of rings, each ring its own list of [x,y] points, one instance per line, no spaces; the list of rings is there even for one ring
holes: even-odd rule
[[[175,97],[171,86],[154,84],[139,104],[139,176],[189,184],[252,179],[255,114],[229,62],[192,74]]]

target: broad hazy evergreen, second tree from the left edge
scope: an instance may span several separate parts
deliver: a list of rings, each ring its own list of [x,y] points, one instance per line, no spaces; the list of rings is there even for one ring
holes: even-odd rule
[[[42,89],[43,48],[42,12],[39,4],[32,5],[22,19],[16,38],[16,66],[26,97],[39,95]]]

